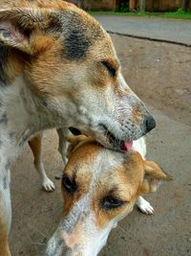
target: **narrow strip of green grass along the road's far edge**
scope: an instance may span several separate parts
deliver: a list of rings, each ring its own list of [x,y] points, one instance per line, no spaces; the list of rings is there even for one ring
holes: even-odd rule
[[[122,16],[145,16],[160,18],[191,19],[191,12],[89,12],[90,14],[122,15]]]

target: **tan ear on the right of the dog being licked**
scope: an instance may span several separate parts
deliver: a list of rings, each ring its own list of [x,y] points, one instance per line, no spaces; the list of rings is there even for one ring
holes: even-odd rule
[[[171,177],[167,175],[159,165],[153,161],[144,161],[144,178],[139,189],[139,195],[155,192],[159,188],[162,180],[170,180]]]

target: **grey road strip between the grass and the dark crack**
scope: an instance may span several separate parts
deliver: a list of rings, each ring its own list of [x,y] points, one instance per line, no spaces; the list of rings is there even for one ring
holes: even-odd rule
[[[191,21],[155,17],[95,15],[108,32],[191,46]]]

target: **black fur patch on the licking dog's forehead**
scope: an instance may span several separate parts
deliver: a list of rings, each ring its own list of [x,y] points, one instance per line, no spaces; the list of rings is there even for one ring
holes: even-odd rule
[[[69,60],[84,58],[100,35],[100,31],[94,24],[84,22],[82,16],[74,11],[61,12],[63,50],[62,56]]]

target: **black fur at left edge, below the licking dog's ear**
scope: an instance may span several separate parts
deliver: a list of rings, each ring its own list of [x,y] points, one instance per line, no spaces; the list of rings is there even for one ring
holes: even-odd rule
[[[0,46],[0,86],[8,83],[8,77],[5,72],[5,64],[8,59],[8,47]]]

